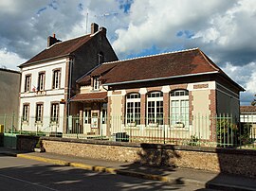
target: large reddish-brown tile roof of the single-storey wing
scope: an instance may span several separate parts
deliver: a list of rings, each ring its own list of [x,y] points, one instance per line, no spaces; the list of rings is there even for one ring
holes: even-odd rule
[[[106,68],[108,71],[101,75],[101,72],[105,71]],[[126,61],[106,62],[95,69],[89,76],[100,75],[102,83],[109,85],[204,73],[219,73],[225,78],[229,78],[199,48]],[[230,78],[229,80],[232,81]],[[232,82],[240,87],[234,81]],[[242,87],[240,89],[243,90]]]

